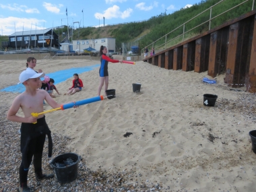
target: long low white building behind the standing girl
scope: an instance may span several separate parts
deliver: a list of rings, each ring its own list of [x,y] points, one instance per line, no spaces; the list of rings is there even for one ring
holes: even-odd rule
[[[97,38],[91,40],[72,40],[73,51],[80,50],[84,52],[84,49],[92,47],[97,51],[100,51],[100,46],[106,46],[108,49],[108,53],[114,53],[116,47],[116,39],[115,38]]]

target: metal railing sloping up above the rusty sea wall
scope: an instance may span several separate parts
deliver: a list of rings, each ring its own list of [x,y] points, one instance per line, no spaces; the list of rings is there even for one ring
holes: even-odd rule
[[[170,42],[171,42],[172,40],[177,40],[177,38],[181,38],[181,36],[182,36],[182,40],[178,40],[175,44],[171,44],[171,46],[174,46],[174,45],[176,45],[176,44],[179,44],[179,43],[181,43],[181,42],[184,42],[184,40],[185,40],[185,34],[187,34],[188,32],[191,32],[192,30],[194,30],[195,28],[198,28],[199,26],[202,26],[203,24],[206,24],[207,22],[209,22],[209,30],[210,30],[210,29],[211,29],[211,22],[212,22],[212,20],[214,20],[215,18],[218,18],[220,15],[223,15],[224,13],[227,13],[228,11],[231,11],[232,9],[234,9],[234,8],[236,8],[236,7],[239,7],[239,6],[243,5],[244,3],[247,3],[248,1],[251,1],[251,0],[245,0],[245,1],[243,1],[242,3],[239,3],[238,5],[235,5],[234,7],[230,8],[230,9],[228,9],[228,10],[226,10],[226,11],[224,11],[224,12],[222,12],[222,13],[220,13],[220,14],[218,14],[218,15],[216,15],[216,16],[214,16],[214,17],[212,18],[212,8],[215,7],[216,5],[222,3],[223,1],[226,1],[226,0],[219,1],[219,2],[216,3],[215,5],[212,5],[210,8],[205,9],[205,11],[203,11],[203,12],[197,14],[195,17],[191,18],[190,20],[188,20],[187,22],[185,22],[185,23],[182,24],[181,26],[175,28],[175,29],[172,30],[171,32],[168,32],[168,34],[165,34],[164,36],[162,36],[161,38],[158,38],[157,40],[155,40],[154,42],[152,42],[152,43],[149,44],[148,46],[145,46],[143,49],[141,49],[141,55],[143,55],[143,53],[145,52],[146,47],[150,47],[150,46],[154,47],[154,44],[156,45],[156,43],[157,43],[157,42],[160,42],[160,40],[162,40],[163,38],[165,38],[164,43],[162,43],[162,44],[157,45],[156,47],[154,47],[155,51],[156,51],[157,49],[166,49],[166,45],[167,45],[168,43],[170,44]],[[253,0],[253,5],[252,5],[251,10],[253,10],[254,6],[255,6],[255,0]],[[205,13],[206,11],[209,11],[209,10],[210,10],[210,19],[209,19],[209,20],[207,20],[207,21],[205,21],[205,22],[203,22],[203,23],[201,23],[201,24],[199,24],[199,25],[197,25],[197,26],[195,26],[195,27],[193,27],[193,28],[191,28],[190,30],[187,30],[187,31],[185,32],[185,24],[191,22],[191,20],[194,20],[195,18],[199,17],[199,15],[201,15],[201,14],[203,14],[203,13]],[[179,34],[178,36],[176,36],[176,37],[174,37],[174,38],[172,38],[172,39],[170,39],[170,40],[167,40],[167,36],[168,36],[169,34],[172,34],[173,32],[177,31],[177,30],[178,30],[179,28],[181,28],[181,27],[183,27],[183,33],[182,33],[182,34]],[[195,34],[194,36],[196,36],[196,35],[197,35],[197,34]],[[193,38],[193,36],[190,36],[189,38]],[[170,46],[169,46],[169,47],[170,47]]]

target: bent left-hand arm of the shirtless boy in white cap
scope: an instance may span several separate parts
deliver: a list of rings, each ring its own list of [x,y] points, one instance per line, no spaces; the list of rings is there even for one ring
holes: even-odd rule
[[[20,96],[16,97],[13,100],[13,103],[11,104],[11,107],[9,108],[9,111],[7,113],[7,119],[9,121],[15,121],[15,122],[20,122],[20,123],[33,123],[36,122],[36,118],[34,117],[19,117],[16,114],[18,113],[18,110],[20,109],[21,106],[21,100]]]

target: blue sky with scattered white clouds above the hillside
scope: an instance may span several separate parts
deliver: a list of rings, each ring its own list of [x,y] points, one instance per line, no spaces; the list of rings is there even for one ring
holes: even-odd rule
[[[78,28],[139,22],[199,2],[201,0],[0,1],[0,35],[67,24]]]

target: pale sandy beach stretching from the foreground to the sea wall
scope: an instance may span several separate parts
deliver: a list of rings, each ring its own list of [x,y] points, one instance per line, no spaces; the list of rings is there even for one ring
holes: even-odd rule
[[[96,64],[100,61],[38,59],[35,69],[42,69],[47,75]],[[0,60],[0,69],[1,90],[18,83],[26,61]],[[79,74],[84,88],[74,95],[64,95],[71,87],[73,74],[65,82],[55,84],[61,95],[54,92],[54,99],[67,103],[97,96],[98,69]],[[113,187],[113,191],[255,191],[256,154],[252,151],[249,131],[256,129],[256,94],[245,92],[244,87],[228,87],[224,84],[225,75],[216,77],[217,84],[206,84],[202,79],[209,77],[207,72],[167,70],[143,61],[135,65],[108,63],[108,73],[108,89],[116,90],[116,98],[45,115],[55,136],[53,157],[75,152],[92,171],[100,168],[106,175],[125,172],[123,183],[119,188]],[[133,83],[141,84],[139,93],[133,92]],[[104,94],[103,89],[101,93]],[[203,94],[218,95],[214,107],[203,106]],[[15,145],[11,143],[11,135],[1,134],[1,149],[6,148],[5,144],[14,145],[9,150],[15,150],[16,156],[15,162],[5,159],[7,152],[0,157],[1,191],[18,187],[20,123],[5,120],[15,96],[18,93],[0,92],[1,125],[6,126],[1,130],[6,135],[8,130],[17,134]],[[49,109],[51,106],[46,104],[44,110]],[[18,114],[22,115],[22,111]],[[125,133],[132,134],[125,137]],[[58,138],[68,139],[59,146]],[[45,158],[44,170],[53,171],[46,162]],[[9,180],[6,167],[11,169]],[[71,185],[79,185],[77,191],[88,191],[86,181],[81,180],[82,172],[83,169],[78,170],[79,183],[73,181]],[[32,170],[28,177],[31,183],[36,183]],[[52,183],[35,184],[34,188],[73,191],[69,184],[52,189],[53,182],[56,183],[56,178]],[[104,187],[90,189],[104,191]]]

